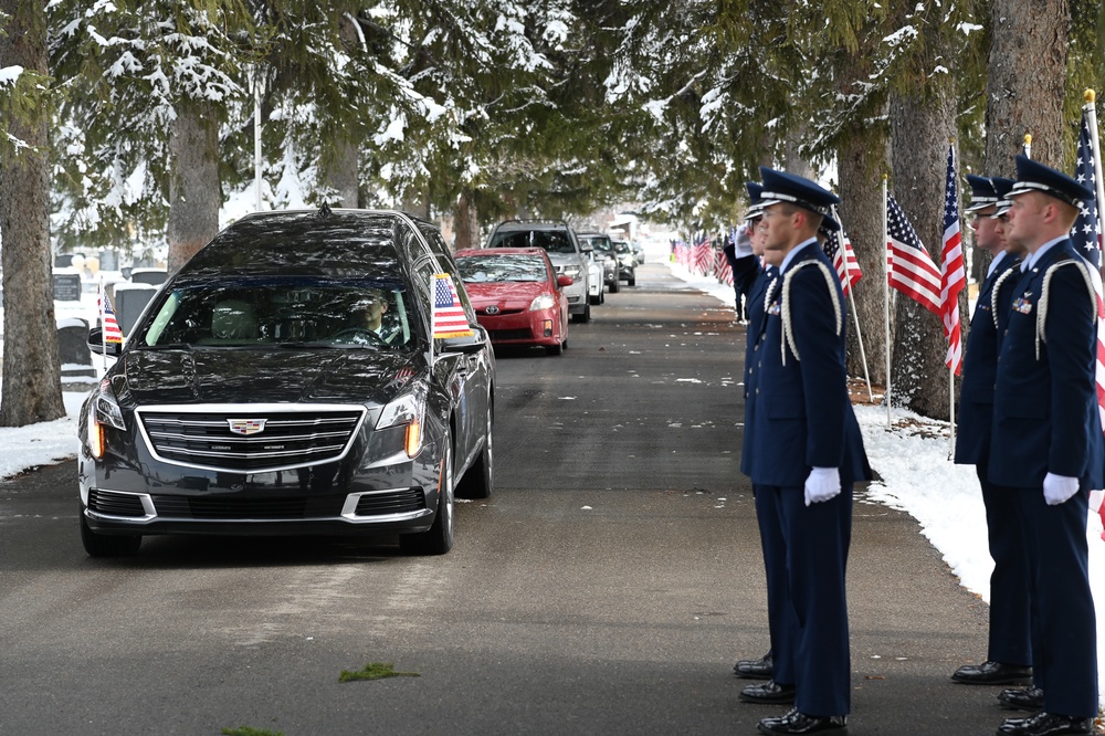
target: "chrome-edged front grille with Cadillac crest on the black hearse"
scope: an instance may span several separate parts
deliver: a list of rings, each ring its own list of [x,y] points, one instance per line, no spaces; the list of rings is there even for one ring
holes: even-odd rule
[[[288,411],[271,407],[138,411],[147,443],[161,460],[235,473],[337,460],[352,442],[364,414],[360,409]]]

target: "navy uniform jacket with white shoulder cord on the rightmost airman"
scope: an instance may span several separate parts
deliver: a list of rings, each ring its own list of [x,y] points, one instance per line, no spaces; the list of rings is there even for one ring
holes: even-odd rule
[[[1041,487],[1051,472],[1099,487],[1105,443],[1095,399],[1096,298],[1086,267],[1071,241],[1060,241],[1011,294],[990,441],[1002,462],[990,463],[991,483]]]

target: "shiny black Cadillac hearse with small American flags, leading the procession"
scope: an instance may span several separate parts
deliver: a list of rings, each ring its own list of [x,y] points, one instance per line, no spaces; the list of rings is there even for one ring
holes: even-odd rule
[[[398,535],[453,546],[493,488],[495,362],[441,233],[396,211],[259,212],[154,295],[85,401],[81,536]]]

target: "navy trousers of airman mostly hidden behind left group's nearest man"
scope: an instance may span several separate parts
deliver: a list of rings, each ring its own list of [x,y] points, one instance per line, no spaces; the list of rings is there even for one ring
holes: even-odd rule
[[[756,498],[756,522],[764,549],[764,571],[767,574],[767,624],[771,637],[771,679],[783,685],[794,684],[794,632],[798,620],[787,580],[787,545],[779,524],[779,496],[766,488],[753,486]]]

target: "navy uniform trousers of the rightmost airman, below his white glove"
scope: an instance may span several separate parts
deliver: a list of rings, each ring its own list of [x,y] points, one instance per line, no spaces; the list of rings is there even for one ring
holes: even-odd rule
[[[1085,484],[1083,484],[1085,485]],[[1031,570],[1033,673],[1048,713],[1097,715],[1097,623],[1086,540],[1088,491],[1055,506],[1043,490],[1007,488],[1024,530]]]

